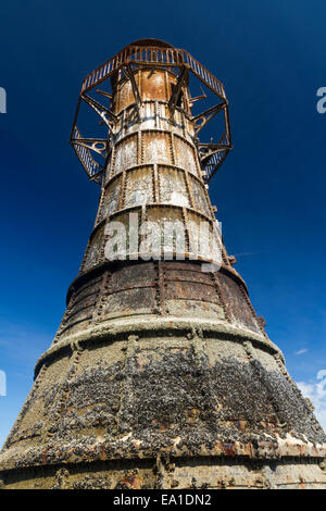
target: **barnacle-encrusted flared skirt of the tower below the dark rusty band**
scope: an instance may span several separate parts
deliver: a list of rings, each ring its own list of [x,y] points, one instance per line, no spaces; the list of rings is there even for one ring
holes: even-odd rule
[[[78,487],[92,463],[98,471],[104,461],[99,472],[109,487],[120,487],[123,477],[115,472],[123,460],[123,466],[138,470],[134,475],[140,473],[136,487],[159,484],[160,460],[175,465],[173,481],[181,487],[193,478],[212,487],[259,486],[259,479],[267,485],[268,468],[276,486],[325,482],[318,465],[324,434],[278,349],[262,336],[171,316],[115,322],[104,332],[99,325],[92,336],[82,332],[85,338],[67,337],[38,364],[1,459],[9,487],[16,466],[25,474],[30,466],[41,478],[58,465],[74,474],[66,484]],[[249,468],[256,462],[255,479]],[[163,474],[170,487],[168,471]],[[90,481],[101,484],[96,474]],[[41,484],[55,487],[55,477]]]

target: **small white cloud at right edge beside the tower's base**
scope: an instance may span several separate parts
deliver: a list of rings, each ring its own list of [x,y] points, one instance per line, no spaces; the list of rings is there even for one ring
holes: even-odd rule
[[[315,407],[315,415],[326,432],[326,370],[319,371],[315,379],[298,382],[297,385]]]

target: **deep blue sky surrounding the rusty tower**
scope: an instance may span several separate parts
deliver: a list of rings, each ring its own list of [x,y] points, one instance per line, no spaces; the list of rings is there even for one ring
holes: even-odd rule
[[[225,85],[234,151],[212,202],[271,339],[326,427],[325,20],[323,0],[2,2],[0,445],[61,321],[97,210],[99,188],[68,145],[82,79],[146,37],[187,49]]]

